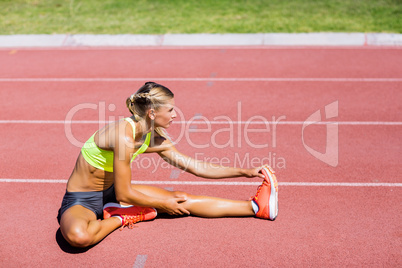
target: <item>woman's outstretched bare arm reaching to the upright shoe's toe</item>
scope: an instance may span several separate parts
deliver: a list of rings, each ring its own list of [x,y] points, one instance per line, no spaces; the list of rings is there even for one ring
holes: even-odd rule
[[[163,149],[159,151],[158,154],[169,164],[195,176],[208,179],[234,177],[264,178],[264,175],[259,173],[263,166],[252,169],[220,166],[209,162],[199,161],[180,153],[169,140],[165,140],[163,143]]]

